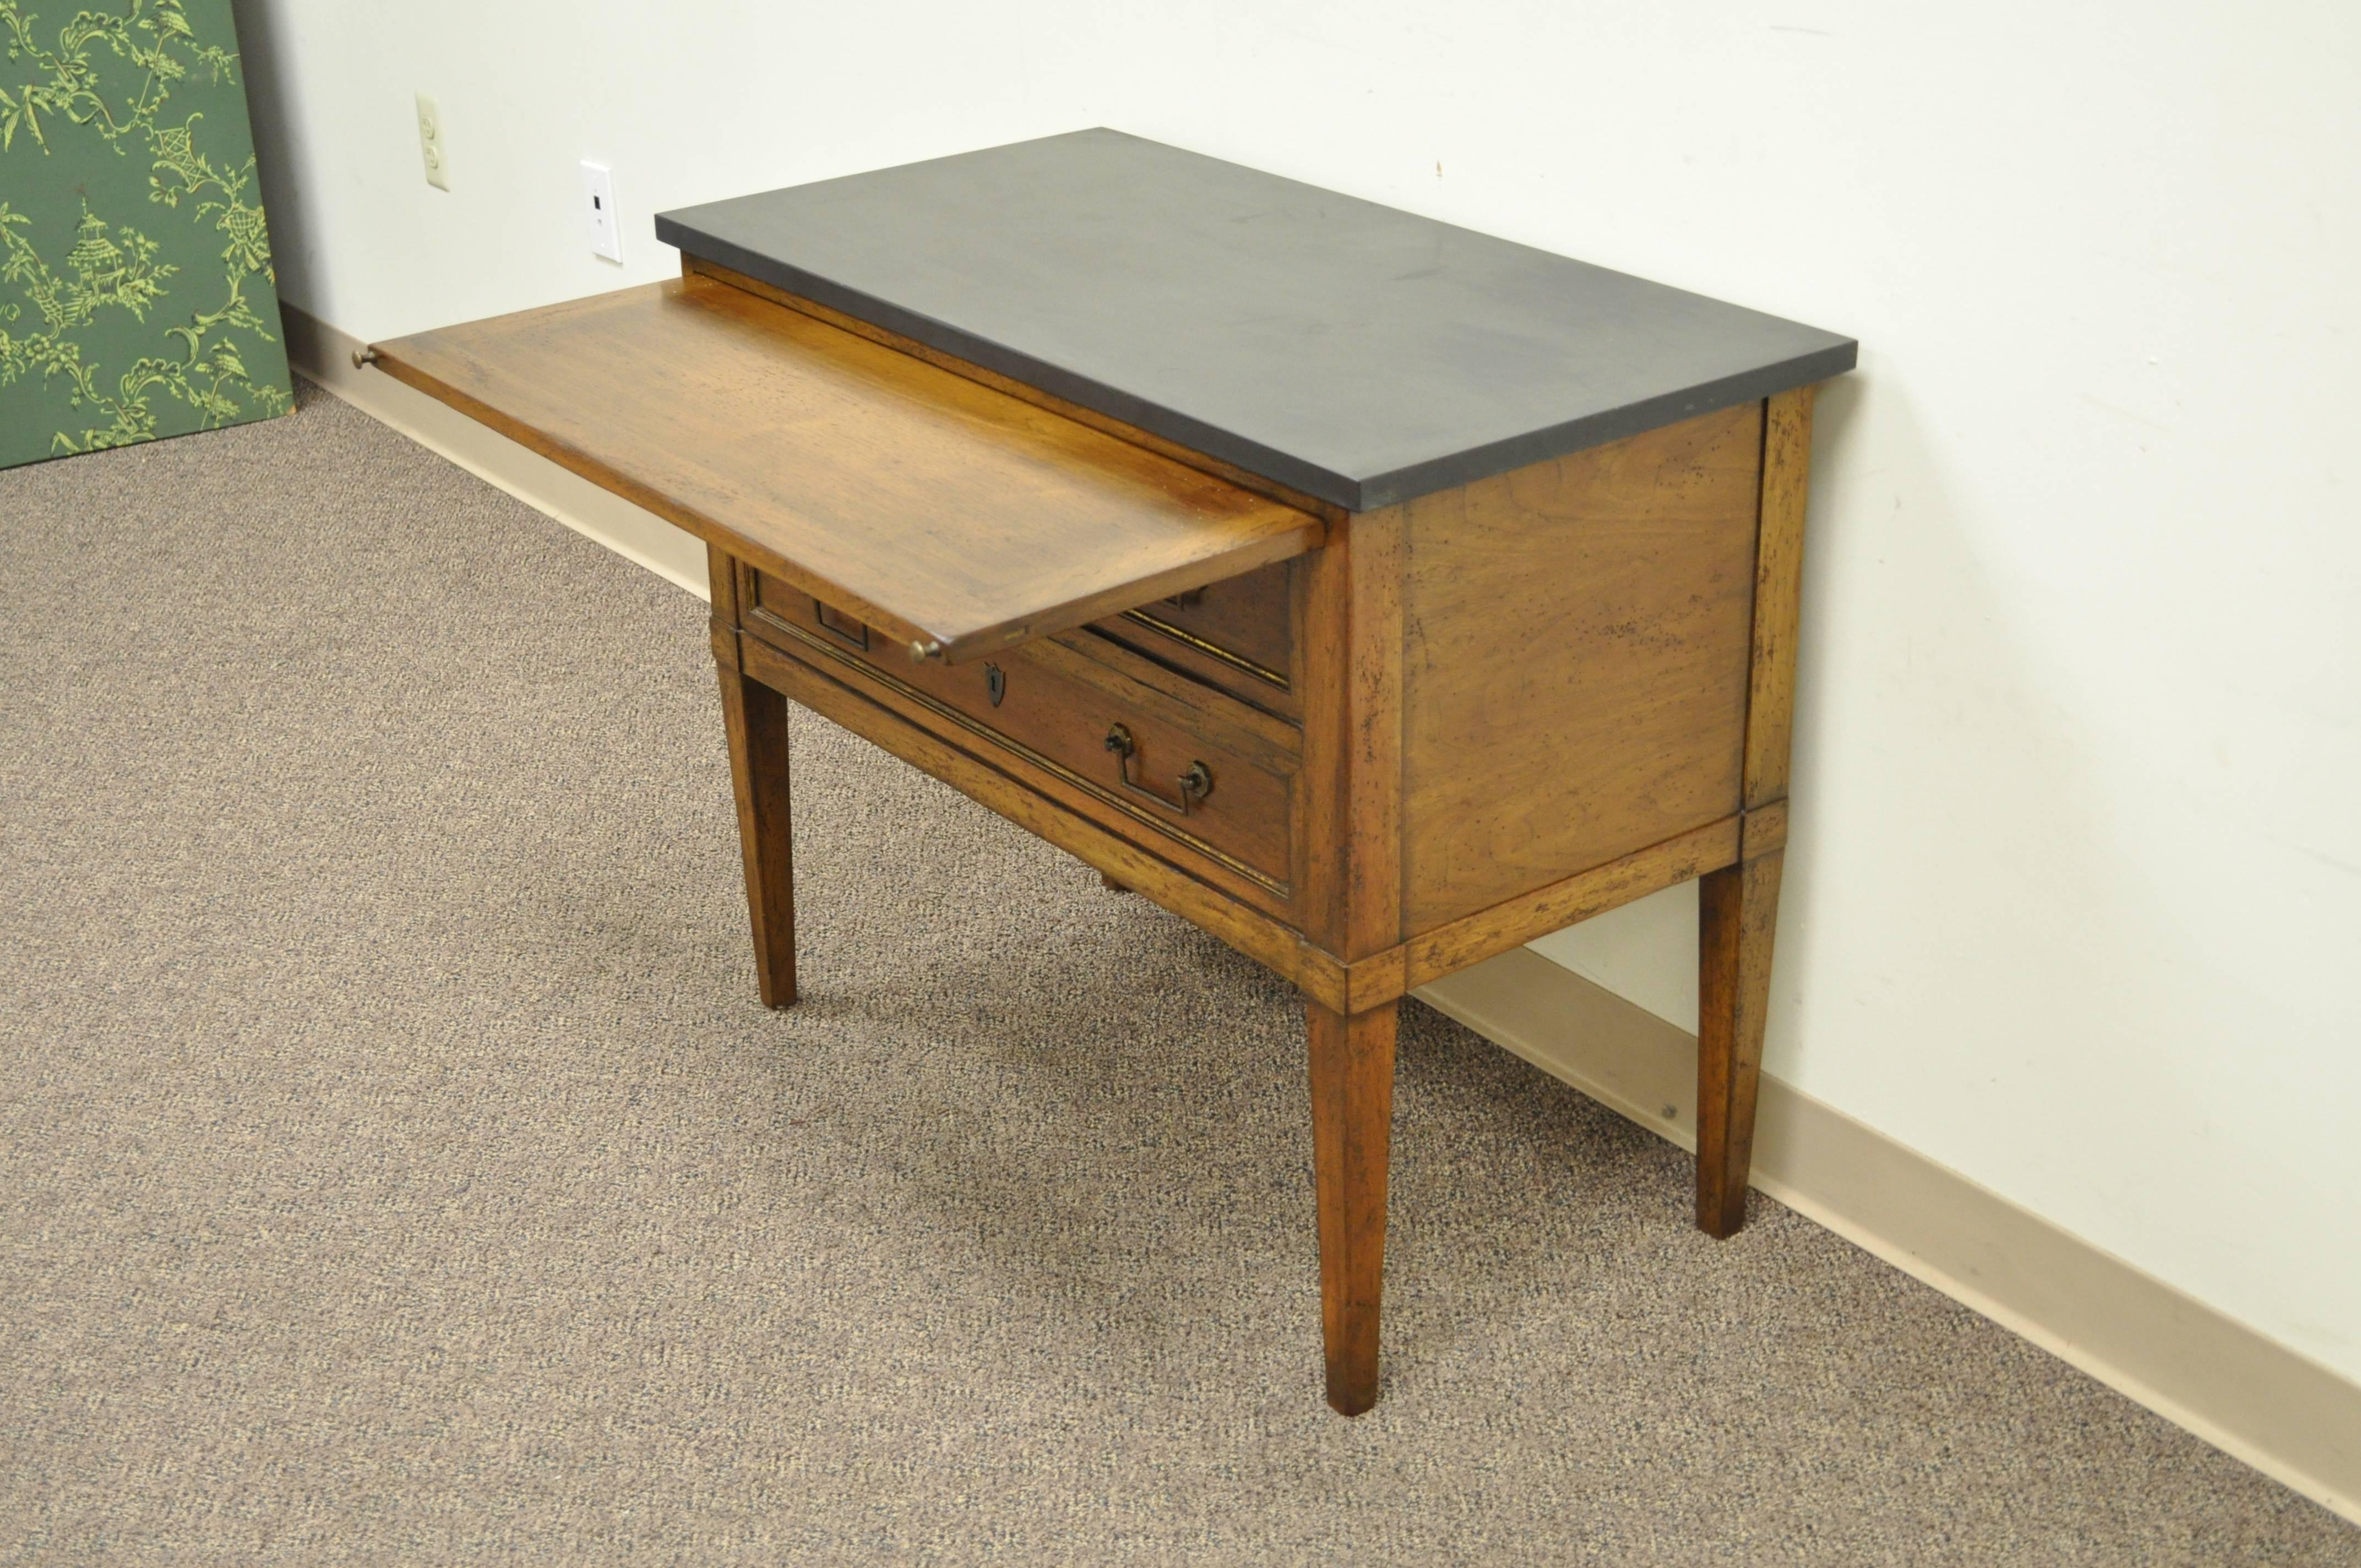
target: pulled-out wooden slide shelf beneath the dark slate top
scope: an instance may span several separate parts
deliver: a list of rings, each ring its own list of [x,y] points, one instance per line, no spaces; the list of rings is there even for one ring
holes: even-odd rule
[[[975,659],[1301,555],[1317,517],[711,279],[378,366],[895,642]]]

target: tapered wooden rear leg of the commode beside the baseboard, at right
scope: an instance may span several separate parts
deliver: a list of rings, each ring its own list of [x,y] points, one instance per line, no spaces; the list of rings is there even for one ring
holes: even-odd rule
[[[1747,1219],[1780,860],[1773,850],[1698,881],[1698,1230],[1716,1237]]]

